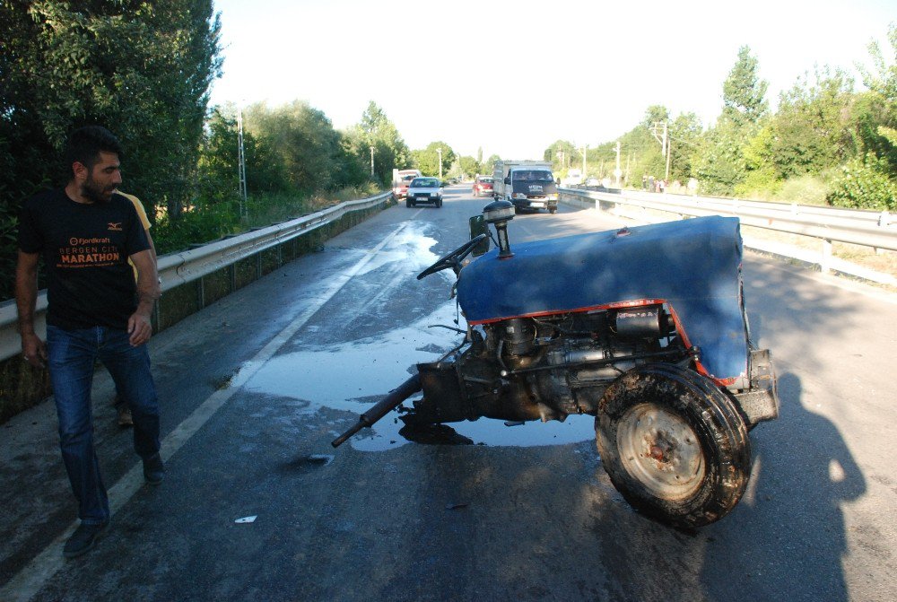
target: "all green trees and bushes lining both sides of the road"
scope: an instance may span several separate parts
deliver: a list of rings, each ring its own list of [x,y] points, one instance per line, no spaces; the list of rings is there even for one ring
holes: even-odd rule
[[[492,173],[499,159],[482,148],[460,156],[441,141],[410,149],[373,101],[344,130],[301,100],[254,104],[240,115],[244,200],[237,107],[208,102],[222,69],[213,0],[90,4],[0,4],[0,299],[13,295],[19,207],[64,183],[60,153],[75,127],[104,125],[121,139],[123,189],[143,200],[161,254],[376,194],[394,168],[466,179]],[[889,33],[897,57],[897,28]],[[897,211],[897,67],[884,49],[869,50],[861,92],[822,68],[773,112],[759,65],[742,48],[712,127],[649,107],[619,140],[588,148],[587,175],[615,181],[619,142],[624,185],[664,178],[656,135],[666,123],[667,190],[693,180],[700,194]],[[581,167],[582,152],[558,141],[544,158],[563,176]]]

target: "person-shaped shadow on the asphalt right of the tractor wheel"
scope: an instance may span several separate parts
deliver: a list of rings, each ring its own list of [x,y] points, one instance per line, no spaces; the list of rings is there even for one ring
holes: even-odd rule
[[[779,421],[754,431],[753,495],[707,546],[710,599],[850,599],[842,507],[866,493],[866,480],[838,429],[802,394],[795,374],[781,375]]]

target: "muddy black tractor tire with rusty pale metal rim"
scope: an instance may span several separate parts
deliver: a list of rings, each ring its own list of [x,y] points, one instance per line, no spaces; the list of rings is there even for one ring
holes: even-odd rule
[[[654,363],[626,372],[601,398],[595,431],[614,487],[655,519],[701,527],[726,516],[745,493],[745,422],[695,371]]]

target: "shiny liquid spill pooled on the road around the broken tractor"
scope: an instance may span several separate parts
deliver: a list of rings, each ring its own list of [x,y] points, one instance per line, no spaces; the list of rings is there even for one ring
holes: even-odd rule
[[[408,227],[393,244],[372,258],[365,273],[384,268],[395,272],[396,266],[414,277],[438,257],[430,249],[436,243],[424,234],[422,226]],[[454,279],[449,271],[440,273]],[[409,280],[405,280],[405,283]],[[455,324],[458,319],[460,324]],[[392,388],[396,388],[414,372],[419,362],[432,362],[460,343],[462,336],[443,325],[465,328],[455,301],[448,301],[413,324],[389,330],[377,336],[333,345],[303,345],[296,353],[284,353],[268,360],[247,380],[235,379],[234,386],[276,397],[297,400],[299,414],[315,414],[322,407],[353,413],[348,421],[333,424],[334,436],[344,431],[370,406]],[[411,401],[405,402],[410,405]],[[355,449],[380,451],[409,442],[400,430],[405,426],[391,413],[371,429],[363,429],[351,439]],[[450,429],[450,430],[449,430]],[[451,431],[458,436],[452,436]],[[405,430],[407,433],[407,430]],[[525,423],[506,426],[503,421],[481,418],[475,422],[451,423],[441,430],[440,437],[430,442],[467,442],[501,446],[535,446],[586,441],[595,436],[594,418],[570,416],[566,422]],[[420,433],[409,434],[411,440],[422,441]]]

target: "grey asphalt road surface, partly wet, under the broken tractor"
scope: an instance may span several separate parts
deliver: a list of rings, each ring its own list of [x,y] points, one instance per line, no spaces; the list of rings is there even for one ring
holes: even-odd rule
[[[98,374],[114,515],[81,558],[62,558],[75,506],[52,403],[4,424],[0,600],[897,599],[897,295],[778,260],[745,255],[745,297],[781,416],[752,432],[748,491],[707,528],[631,510],[588,417],[483,419],[434,444],[390,414],[332,449],[457,341],[430,327],[458,318],[450,273],[414,275],[486,202],[455,187],[441,209],[392,207],[155,336],[159,487],[143,484]],[[513,245],[614,225],[562,208],[509,232]]]

